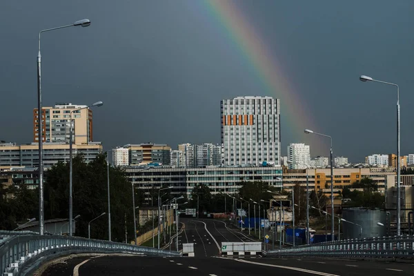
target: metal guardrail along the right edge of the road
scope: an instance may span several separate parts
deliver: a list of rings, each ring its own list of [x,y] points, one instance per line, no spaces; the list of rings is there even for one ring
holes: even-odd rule
[[[267,255],[306,255],[327,257],[414,257],[414,236],[370,237],[322,242],[280,250],[269,250]]]

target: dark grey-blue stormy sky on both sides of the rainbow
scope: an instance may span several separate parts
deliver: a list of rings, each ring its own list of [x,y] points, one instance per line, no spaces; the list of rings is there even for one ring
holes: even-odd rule
[[[88,18],[89,28],[42,35],[43,106],[103,101],[94,110],[94,140],[105,149],[219,143],[219,101],[268,94],[197,2],[1,1],[0,140],[32,141],[39,31]],[[277,45],[272,55],[314,130],[333,136],[335,155],[356,162],[395,152],[395,88],[362,83],[362,74],[400,85],[402,154],[414,153],[414,1],[236,3],[263,41]],[[328,155],[328,141],[283,132],[297,127],[282,113],[282,154],[288,143],[304,142],[311,155]]]

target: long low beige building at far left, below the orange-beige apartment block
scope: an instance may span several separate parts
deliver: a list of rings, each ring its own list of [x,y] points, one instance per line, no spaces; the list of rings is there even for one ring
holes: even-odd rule
[[[83,154],[86,163],[102,152],[101,142],[72,145],[72,154]],[[43,143],[43,167],[50,168],[58,161],[69,161],[69,144]],[[0,144],[0,166],[39,166],[39,145],[37,143],[17,145]]]

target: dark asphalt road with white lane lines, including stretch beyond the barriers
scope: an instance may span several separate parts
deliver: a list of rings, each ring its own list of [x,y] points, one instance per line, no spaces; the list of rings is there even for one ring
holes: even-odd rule
[[[213,219],[181,219],[183,243],[195,244],[195,257],[107,256],[81,257],[55,264],[43,275],[413,275],[414,264],[333,258],[219,257],[221,242],[249,242],[244,233]],[[175,243],[172,245],[175,249]],[[76,270],[74,272],[74,270]],[[72,274],[73,273],[73,274]],[[145,275],[145,274],[144,274]]]

